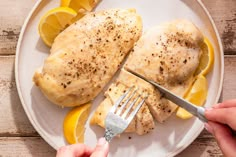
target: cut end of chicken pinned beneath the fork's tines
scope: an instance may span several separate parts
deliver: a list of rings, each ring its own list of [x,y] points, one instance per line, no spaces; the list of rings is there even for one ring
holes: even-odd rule
[[[104,123],[105,117],[102,117],[98,113],[103,112],[103,114],[104,113],[107,114],[108,111],[104,112],[103,109],[105,108],[104,103],[107,102],[107,99],[110,99],[111,103],[114,104],[118,100],[118,98],[121,95],[123,95],[125,91],[128,89],[129,87],[118,82],[111,84],[105,93],[106,99],[96,109],[95,114],[91,119],[91,122],[93,124],[95,123],[102,126],[101,124]],[[130,101],[133,101],[133,99],[131,99]],[[133,128],[133,124],[135,124],[135,128]],[[125,132],[136,132],[139,135],[143,135],[150,132],[153,129],[154,129],[154,120],[149,112],[146,103],[144,103]]]

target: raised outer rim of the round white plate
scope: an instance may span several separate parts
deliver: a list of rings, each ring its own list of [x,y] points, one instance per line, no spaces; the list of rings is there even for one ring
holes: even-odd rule
[[[21,104],[25,110],[25,113],[30,121],[30,123],[33,125],[34,129],[40,134],[40,136],[51,146],[53,147],[55,150],[57,150],[57,146],[54,144],[53,141],[51,141],[50,139],[47,138],[47,135],[45,135],[43,133],[43,131],[40,129],[40,126],[38,126],[38,123],[35,122],[34,118],[32,118],[27,105],[25,103],[25,100],[23,98],[22,92],[21,92],[21,86],[20,86],[20,81],[19,81],[19,72],[18,72],[18,65],[19,65],[19,55],[20,55],[20,49],[21,49],[21,44],[22,44],[22,40],[24,38],[24,34],[26,31],[26,28],[30,22],[30,19],[32,18],[33,14],[36,12],[36,10],[39,8],[40,4],[45,1],[45,0],[38,0],[35,5],[33,6],[33,8],[31,9],[31,11],[29,12],[28,16],[26,17],[22,28],[21,28],[21,32],[20,32],[20,36],[17,42],[17,47],[16,47],[16,54],[15,54],[15,80],[16,80],[16,87],[17,87],[17,93],[18,96],[20,98]],[[207,8],[205,7],[205,5],[203,4],[202,0],[197,0],[196,3],[198,3],[200,5],[200,7],[202,7],[203,11],[206,13],[208,19],[210,20],[210,24],[214,30],[214,34],[216,35],[216,39],[217,39],[217,44],[219,46],[219,50],[220,50],[220,56],[223,56],[220,58],[221,61],[221,69],[220,69],[220,84],[219,84],[219,90],[218,93],[216,95],[216,99],[214,103],[217,103],[220,99],[221,96],[221,92],[222,92],[222,88],[223,88],[223,80],[224,80],[224,50],[223,50],[223,45],[222,45],[222,41],[218,32],[218,29],[214,23],[213,18],[211,17],[209,11],[207,10]],[[199,129],[196,131],[195,136],[193,136],[193,138],[191,138],[191,140],[189,140],[189,142],[185,142],[183,144],[182,147],[176,149],[173,152],[168,153],[166,156],[175,156],[177,154],[179,154],[180,152],[182,152],[184,149],[186,149],[198,136],[199,134],[202,132],[202,130],[204,129],[204,125],[202,124],[201,127],[199,127]]]

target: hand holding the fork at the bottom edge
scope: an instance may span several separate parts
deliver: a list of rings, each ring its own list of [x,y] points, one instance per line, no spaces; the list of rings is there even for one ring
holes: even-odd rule
[[[101,138],[94,149],[85,144],[68,145],[58,149],[56,157],[106,157],[108,150],[108,142]]]

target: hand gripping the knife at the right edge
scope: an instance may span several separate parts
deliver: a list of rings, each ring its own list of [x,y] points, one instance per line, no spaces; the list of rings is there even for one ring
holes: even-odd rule
[[[232,130],[236,130],[236,99],[228,100],[213,106],[205,112],[209,120],[205,128],[212,133],[227,157],[236,156],[236,138]]]

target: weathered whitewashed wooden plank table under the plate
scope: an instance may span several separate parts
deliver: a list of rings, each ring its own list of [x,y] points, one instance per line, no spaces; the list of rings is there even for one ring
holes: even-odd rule
[[[203,0],[224,45],[225,78],[221,100],[236,98],[236,0]],[[21,26],[36,0],[0,0],[0,157],[55,156],[30,124],[18,97],[14,77]],[[179,157],[222,156],[213,136],[203,131]]]

